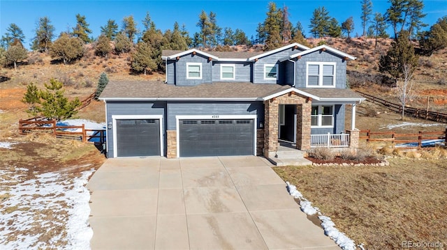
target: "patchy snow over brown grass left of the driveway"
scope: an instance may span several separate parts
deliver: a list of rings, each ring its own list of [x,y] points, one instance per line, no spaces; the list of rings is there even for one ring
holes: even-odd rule
[[[0,171],[0,249],[90,249],[93,169],[72,178],[65,173],[10,168]]]

